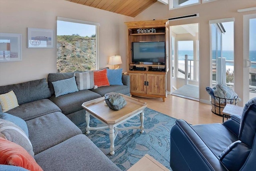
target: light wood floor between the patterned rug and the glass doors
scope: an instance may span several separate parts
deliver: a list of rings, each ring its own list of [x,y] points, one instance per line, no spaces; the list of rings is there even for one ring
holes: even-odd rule
[[[212,113],[211,105],[198,101],[168,95],[164,102],[162,98],[144,98],[132,96],[145,101],[148,108],[159,111],[176,119],[184,119],[192,125],[202,123],[222,123],[222,117]]]

